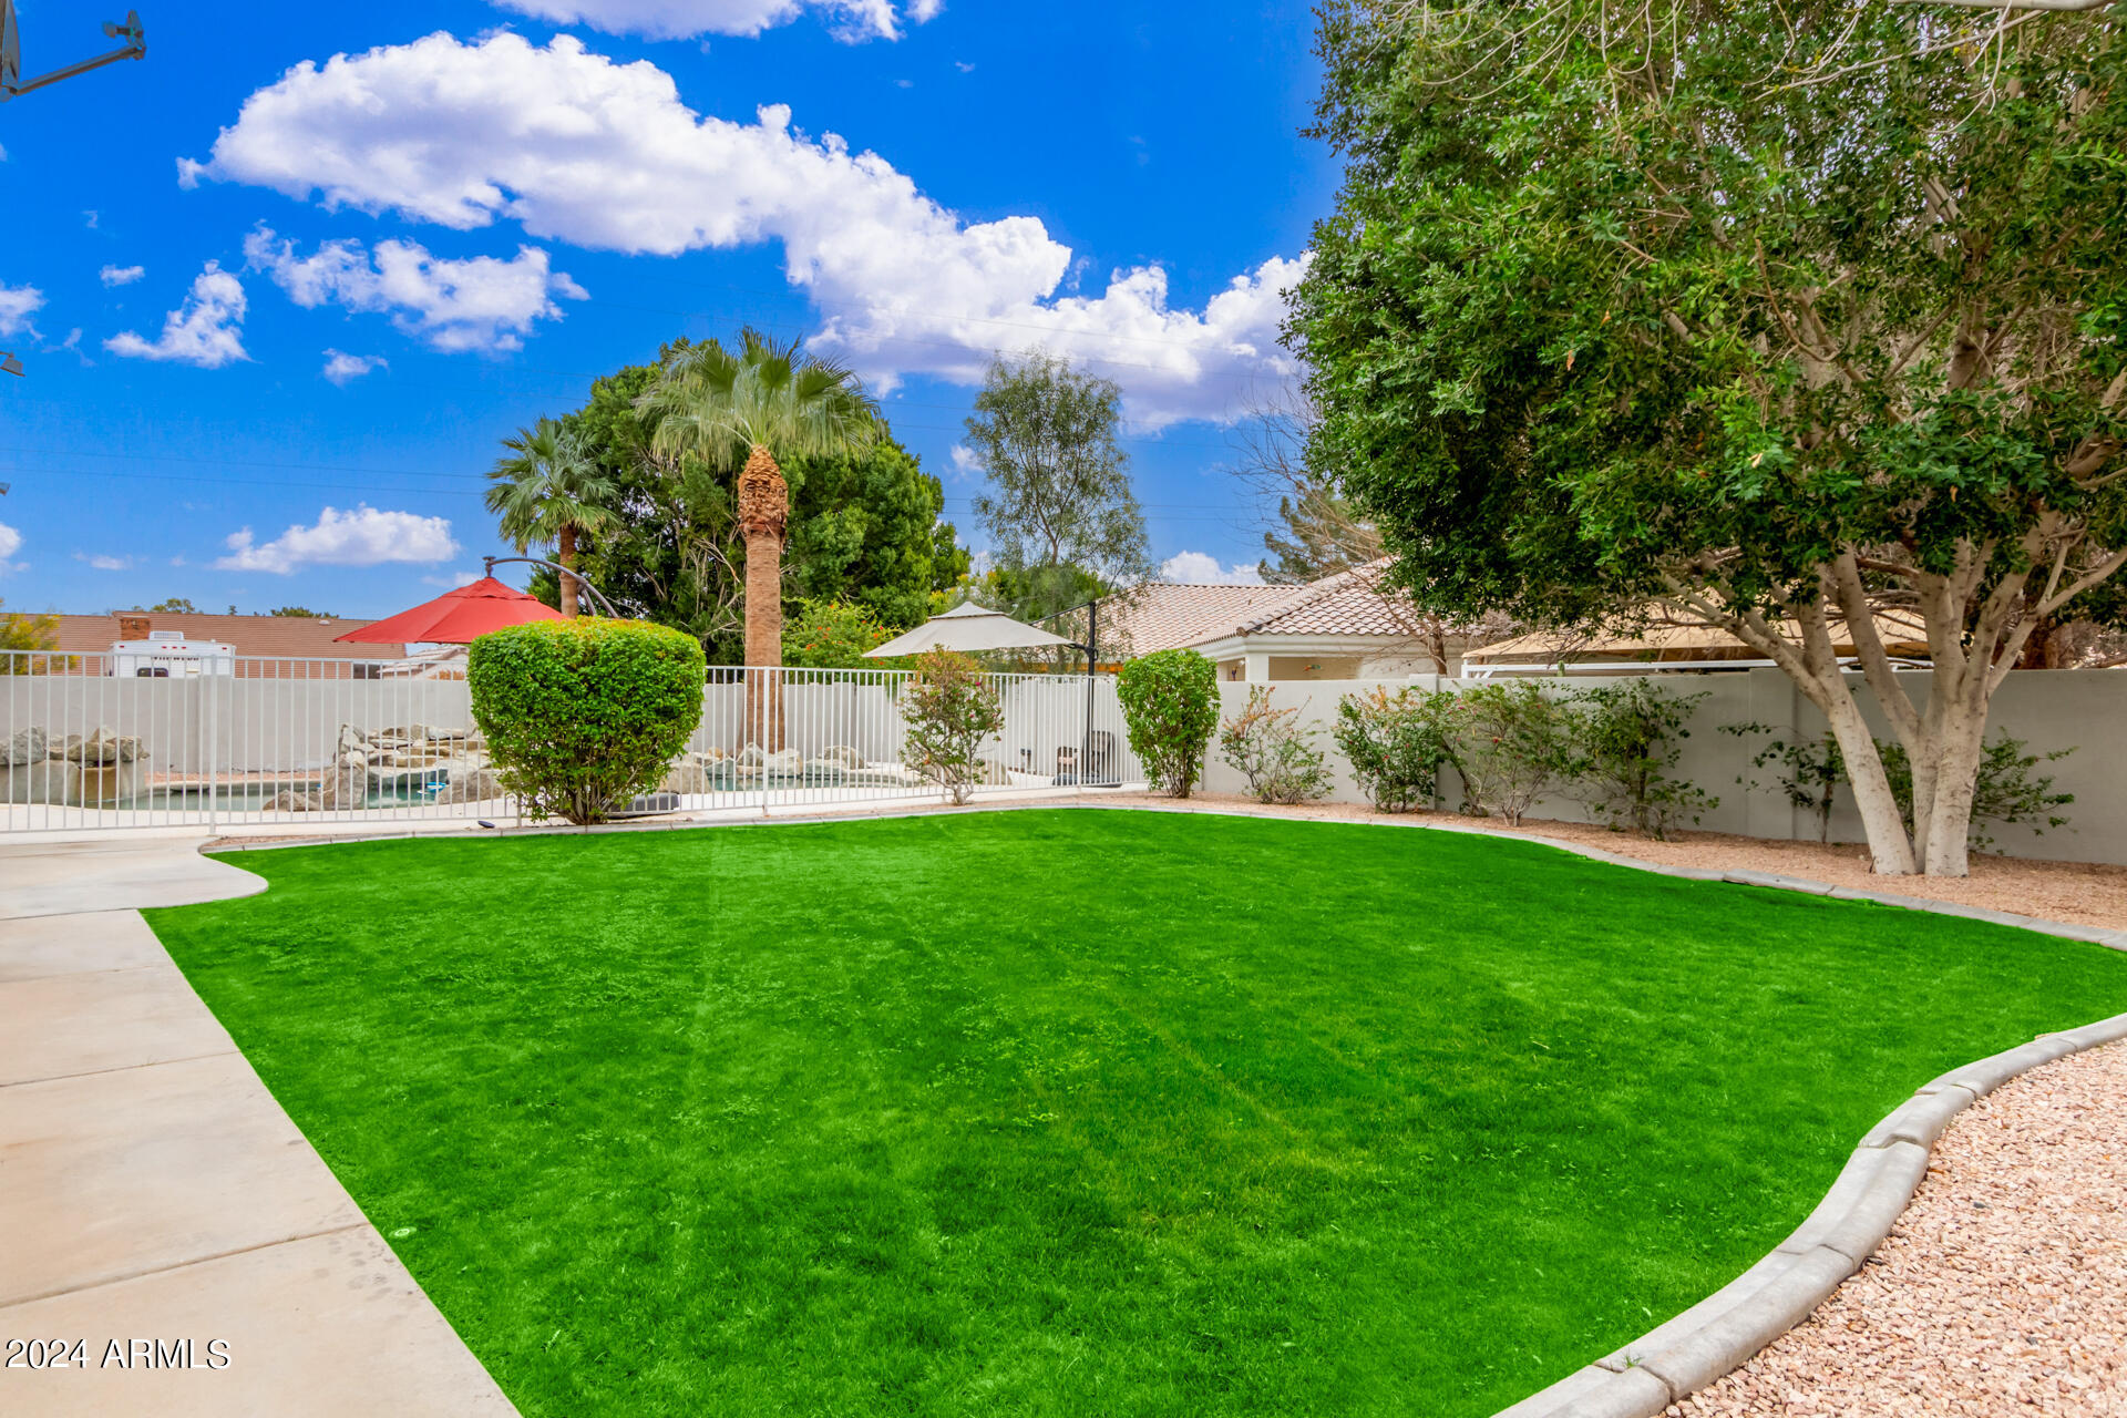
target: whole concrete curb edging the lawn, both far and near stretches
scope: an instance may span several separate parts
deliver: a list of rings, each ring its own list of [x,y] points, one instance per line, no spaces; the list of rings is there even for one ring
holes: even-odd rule
[[[1621,853],[1606,853],[1580,842],[1544,838],[1519,831],[1491,831],[1466,823],[1402,821],[1380,823],[1378,818],[1300,818],[1285,812],[1261,812],[1249,808],[1180,808],[1134,799],[1104,801],[1017,801],[1017,804],[970,804],[947,808],[944,812],[1025,812],[1025,810],[1136,810],[1174,812],[1206,816],[1263,816],[1276,821],[1317,821],[1329,825],[1380,825],[1419,827],[1427,831],[1457,831],[1485,838],[1506,838],[1512,842],[1536,842],[1576,857],[1602,861],[1606,865],[1676,876],[1685,880],[1729,882],[1738,887],[1763,887],[1774,891],[1795,891],[1838,901],[1870,901],[1904,910],[1921,910],[1940,916],[1961,916],[2014,929],[2038,931],[2063,940],[2097,944],[2112,950],[2127,950],[2127,931],[2104,927],[2070,925],[2044,921],[2040,916],[2019,916],[2012,912],[1982,910],[1955,901],[1933,901],[1904,897],[1880,891],[1855,891],[1831,887],[1799,876],[1774,872],[1719,872],[1708,867],[1672,867]],[[938,808],[851,812],[817,816],[781,816],[730,825],[783,825],[823,823],[881,816],[929,816]],[[651,829],[670,827],[713,827],[719,823],[659,823]],[[644,825],[649,827],[649,825]],[[315,844],[313,842],[304,842]],[[211,844],[200,844],[206,850]],[[253,846],[253,844],[242,844]],[[268,846],[268,844],[255,844]],[[272,844],[281,846],[281,844]],[[296,842],[289,842],[296,846]],[[230,848],[219,848],[230,850]],[[240,850],[240,848],[238,848]],[[1906,1212],[1921,1180],[1927,1176],[1927,1159],[1936,1140],[1942,1137],[1950,1120],[1987,1097],[2004,1082],[2036,1067],[2065,1059],[2067,1054],[2127,1040],[2127,1014],[2114,1014],[2080,1029],[2042,1033],[2029,1044],[1978,1059],[1921,1084],[1910,1099],[1893,1108],[1872,1127],[1846,1167],[1816,1210],[1795,1227],[1757,1265],[1721,1286],[1682,1314],[1657,1324],[1638,1339],[1604,1354],[1595,1363],[1568,1373],[1563,1380],[1500,1409],[1493,1418],[1659,1418],[1663,1409],[1682,1397],[1712,1384],[1725,1373],[1742,1367],[1768,1344],[1802,1324],[1833,1290],[1840,1288],[1891,1235],[1897,1218]]]

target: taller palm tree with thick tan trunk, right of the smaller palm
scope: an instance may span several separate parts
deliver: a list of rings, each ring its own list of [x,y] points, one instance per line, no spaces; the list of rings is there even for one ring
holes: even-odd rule
[[[861,453],[878,438],[878,402],[857,376],[798,344],[776,344],[757,330],[740,332],[736,353],[717,340],[689,344],[636,400],[657,423],[655,453],[691,453],[719,474],[738,468],[749,665],[783,663],[783,531],[791,497],[776,459]]]

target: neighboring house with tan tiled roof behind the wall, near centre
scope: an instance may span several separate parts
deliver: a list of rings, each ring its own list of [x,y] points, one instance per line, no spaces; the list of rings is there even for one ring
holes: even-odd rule
[[[1102,602],[1102,642],[1127,655],[1189,648],[1223,680],[1378,680],[1459,674],[1483,629],[1419,612],[1383,583],[1387,559],[1302,587],[1155,580]]]

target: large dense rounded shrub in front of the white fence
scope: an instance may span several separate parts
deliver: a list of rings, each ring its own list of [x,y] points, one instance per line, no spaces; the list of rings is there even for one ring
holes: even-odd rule
[[[472,719],[534,818],[600,823],[664,778],[702,719],[702,646],[644,621],[534,621],[466,657]]]

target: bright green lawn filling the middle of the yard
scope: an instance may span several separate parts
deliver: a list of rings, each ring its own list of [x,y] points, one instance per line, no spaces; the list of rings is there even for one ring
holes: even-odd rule
[[[2097,946],[1402,827],[232,861],[155,929],[527,1414],[1489,1414],[2127,1010]]]

